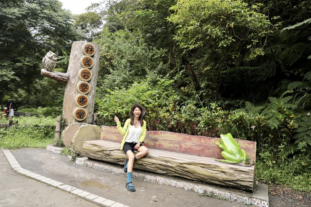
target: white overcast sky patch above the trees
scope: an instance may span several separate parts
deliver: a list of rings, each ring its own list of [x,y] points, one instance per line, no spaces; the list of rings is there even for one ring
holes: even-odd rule
[[[99,3],[103,0],[59,0],[63,3],[63,8],[71,11],[72,14],[85,13],[85,8],[91,3]]]

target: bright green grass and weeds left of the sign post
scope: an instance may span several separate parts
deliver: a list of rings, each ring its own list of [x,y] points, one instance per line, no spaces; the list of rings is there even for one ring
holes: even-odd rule
[[[47,145],[54,143],[56,124],[54,118],[21,116],[14,117],[14,120],[18,120],[18,124],[0,128],[0,148],[46,148]],[[40,127],[35,127],[34,124]]]

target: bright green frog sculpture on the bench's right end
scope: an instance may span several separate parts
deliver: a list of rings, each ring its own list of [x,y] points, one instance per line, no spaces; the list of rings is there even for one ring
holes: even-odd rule
[[[214,143],[223,150],[221,156],[225,158],[225,160],[216,159],[216,161],[242,166],[252,166],[254,164],[254,161],[248,158],[245,150],[240,149],[240,144],[230,133],[221,134],[220,139],[214,139]]]

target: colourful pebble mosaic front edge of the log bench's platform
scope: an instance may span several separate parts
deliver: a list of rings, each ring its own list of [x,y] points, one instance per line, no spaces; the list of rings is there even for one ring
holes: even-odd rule
[[[126,176],[126,174],[123,172],[123,169],[107,166],[104,164],[98,164],[95,162],[88,161],[87,158],[78,158],[76,159],[75,163],[77,165],[81,166],[87,166],[91,167],[97,170],[101,170],[108,173],[114,173],[117,175]],[[172,187],[177,187],[184,189],[186,191],[195,191],[201,196],[209,196],[212,198],[221,198],[227,201],[233,201],[237,203],[243,203],[246,205],[255,205],[259,207],[269,207],[269,202],[266,200],[260,200],[256,198],[246,197],[244,195],[239,195],[237,193],[231,193],[228,191],[222,191],[216,188],[207,187],[204,185],[199,184],[193,184],[188,182],[180,182],[173,179],[168,178],[162,178],[159,176],[153,176],[153,175],[147,175],[143,173],[136,173],[133,172],[133,178],[151,182],[151,183],[157,183],[161,185],[168,185]]]

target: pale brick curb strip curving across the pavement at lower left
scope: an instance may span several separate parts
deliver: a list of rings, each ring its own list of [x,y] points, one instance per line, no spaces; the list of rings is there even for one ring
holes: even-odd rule
[[[59,148],[59,147],[58,147]],[[69,192],[73,195],[79,196],[82,199],[88,200],[92,203],[95,203],[97,205],[100,206],[105,206],[105,207],[129,207],[127,205],[115,202],[113,200],[109,200],[100,196],[96,196],[94,194],[91,194],[87,191],[83,191],[81,189],[77,189],[75,187],[72,187],[70,185],[66,185],[62,182],[58,182],[56,180],[52,180],[50,178],[46,178],[42,175],[33,173],[31,171],[28,171],[26,169],[21,168],[21,166],[18,164],[17,160],[15,159],[15,157],[12,155],[10,150],[3,150],[4,155],[7,157],[7,160],[9,161],[9,163],[11,164],[12,169],[16,172],[19,173],[21,175],[25,175],[26,177],[35,179],[37,181],[40,182],[44,182],[46,184],[49,184],[51,186],[54,186],[58,189],[61,189],[63,191]],[[59,151],[60,153],[60,151]]]

